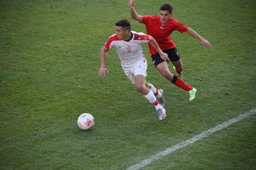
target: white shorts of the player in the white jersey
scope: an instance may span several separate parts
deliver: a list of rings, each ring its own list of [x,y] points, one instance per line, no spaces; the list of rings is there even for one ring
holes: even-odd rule
[[[143,75],[144,77],[147,76],[147,60],[144,58],[144,60],[137,62],[133,65],[130,69],[123,69],[125,75],[131,80],[132,84],[134,84],[135,76],[137,75]]]

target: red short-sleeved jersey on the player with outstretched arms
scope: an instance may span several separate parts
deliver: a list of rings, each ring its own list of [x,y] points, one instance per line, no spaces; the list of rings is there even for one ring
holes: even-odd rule
[[[151,35],[155,41],[158,42],[161,50],[167,50],[175,47],[175,43],[170,38],[170,34],[172,34],[174,30],[183,33],[188,29],[187,26],[179,23],[179,21],[173,18],[169,18],[167,23],[163,25],[160,21],[160,16],[143,16],[141,23],[146,25],[147,34]],[[158,53],[150,43],[148,43],[148,46],[150,47],[151,54]]]

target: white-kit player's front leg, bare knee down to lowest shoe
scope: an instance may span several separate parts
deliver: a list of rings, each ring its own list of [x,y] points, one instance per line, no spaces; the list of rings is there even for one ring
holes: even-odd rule
[[[146,87],[145,83],[145,76],[144,75],[136,75],[134,78],[134,85],[137,88],[139,92],[141,92],[144,97],[151,102],[151,104],[155,107],[157,110],[159,120],[165,119],[166,117],[166,110],[163,108],[158,100],[155,98],[154,93],[150,90],[150,88]]]

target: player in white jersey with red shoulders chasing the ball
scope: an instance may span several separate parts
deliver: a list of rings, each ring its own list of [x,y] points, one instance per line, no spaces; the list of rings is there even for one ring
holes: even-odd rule
[[[110,36],[101,49],[101,69],[98,75],[103,77],[108,73],[108,69],[106,69],[107,51],[112,47],[116,47],[125,75],[131,80],[137,90],[157,109],[159,120],[162,120],[166,117],[166,110],[163,108],[165,107],[163,91],[158,91],[152,84],[147,83],[145,78],[147,61],[141,45],[148,42],[158,51],[163,60],[169,61],[168,55],[162,52],[152,36],[131,31],[131,24],[127,19],[118,21],[116,23],[116,34]],[[159,101],[155,98],[155,95]]]

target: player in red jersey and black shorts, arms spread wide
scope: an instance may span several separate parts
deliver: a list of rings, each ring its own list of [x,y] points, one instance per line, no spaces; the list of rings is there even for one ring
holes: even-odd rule
[[[193,29],[179,23],[179,21],[176,19],[170,18],[172,16],[173,10],[172,5],[170,4],[164,3],[160,6],[159,16],[140,16],[134,10],[134,0],[129,1],[129,8],[131,10],[131,17],[134,20],[139,21],[139,23],[145,24],[147,34],[151,35],[155,41],[158,42],[160,49],[164,53],[168,54],[170,61],[174,65],[174,70],[177,74],[179,74],[179,77],[170,73],[168,68],[168,61],[165,62],[162,60],[159,57],[158,52],[150,44],[148,44],[155,67],[170,82],[176,86],[179,86],[183,90],[188,91],[190,101],[195,99],[195,93],[197,91],[196,88],[190,87],[182,80],[183,65],[180,59],[180,55],[175,48],[175,43],[170,38],[170,34],[172,34],[173,31],[179,31],[180,33],[186,32],[194,38],[200,40],[203,47],[212,48],[210,42],[203,39],[202,36],[197,34]]]

